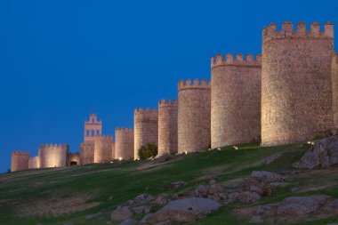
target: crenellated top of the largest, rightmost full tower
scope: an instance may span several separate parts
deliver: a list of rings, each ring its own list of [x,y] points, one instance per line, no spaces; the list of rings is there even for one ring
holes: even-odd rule
[[[278,30],[276,23],[270,23],[267,28],[262,30],[263,42],[274,39],[334,39],[334,25],[331,22],[326,22],[324,31],[320,30],[318,22],[310,24],[310,30],[306,29],[304,22],[299,22],[294,29],[294,25],[290,21],[285,21],[282,24],[281,30]]]

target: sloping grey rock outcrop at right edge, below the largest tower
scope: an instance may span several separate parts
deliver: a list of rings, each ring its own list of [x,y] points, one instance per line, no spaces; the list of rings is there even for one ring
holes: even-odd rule
[[[327,168],[338,164],[338,135],[318,141],[310,152],[294,163],[297,169]]]

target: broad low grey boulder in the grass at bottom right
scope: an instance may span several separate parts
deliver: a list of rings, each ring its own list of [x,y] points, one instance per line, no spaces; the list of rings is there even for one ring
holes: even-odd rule
[[[330,197],[310,196],[310,197],[287,197],[277,208],[278,215],[303,215],[314,213],[325,205]]]

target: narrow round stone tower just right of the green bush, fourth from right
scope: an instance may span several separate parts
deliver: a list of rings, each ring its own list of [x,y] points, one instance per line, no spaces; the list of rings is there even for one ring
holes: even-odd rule
[[[158,101],[158,156],[177,153],[177,100]]]

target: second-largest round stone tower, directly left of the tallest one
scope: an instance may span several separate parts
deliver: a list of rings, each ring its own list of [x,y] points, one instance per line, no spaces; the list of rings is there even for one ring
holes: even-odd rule
[[[261,141],[261,55],[212,58],[212,148]]]

